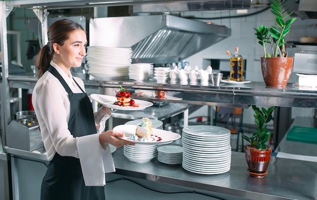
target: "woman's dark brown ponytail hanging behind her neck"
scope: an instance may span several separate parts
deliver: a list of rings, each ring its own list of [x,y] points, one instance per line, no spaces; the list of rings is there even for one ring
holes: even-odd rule
[[[53,48],[51,49],[48,44],[39,50],[36,58],[37,76],[41,78],[42,75],[48,70],[50,62],[53,58]]]

